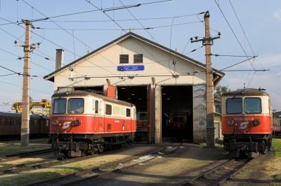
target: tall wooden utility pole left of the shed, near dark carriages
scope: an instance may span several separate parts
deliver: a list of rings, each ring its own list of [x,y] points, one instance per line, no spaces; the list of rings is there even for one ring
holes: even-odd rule
[[[25,52],[23,66],[22,83],[22,126],[20,129],[20,145],[30,144],[30,49],[31,49],[31,28],[32,24],[28,20],[22,20],[25,24]]]

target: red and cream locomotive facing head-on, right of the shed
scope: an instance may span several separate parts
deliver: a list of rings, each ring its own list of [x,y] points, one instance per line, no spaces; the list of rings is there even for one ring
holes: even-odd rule
[[[222,96],[223,146],[231,157],[254,157],[270,149],[272,112],[270,95],[242,89]]]

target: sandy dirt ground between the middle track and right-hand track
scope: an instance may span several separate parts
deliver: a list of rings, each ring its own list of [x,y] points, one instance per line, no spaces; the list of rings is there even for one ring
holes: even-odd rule
[[[221,164],[225,157],[222,148],[208,149],[184,143],[169,155],[159,155],[148,162],[86,180],[79,185],[178,185]]]

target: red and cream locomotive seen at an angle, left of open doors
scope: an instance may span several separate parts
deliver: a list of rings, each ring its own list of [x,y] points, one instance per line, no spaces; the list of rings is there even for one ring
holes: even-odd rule
[[[53,94],[50,135],[53,148],[68,157],[131,143],[136,106],[85,91]]]

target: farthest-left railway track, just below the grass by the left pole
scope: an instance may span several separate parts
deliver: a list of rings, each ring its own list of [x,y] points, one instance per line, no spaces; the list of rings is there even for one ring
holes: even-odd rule
[[[32,155],[41,155],[41,154],[48,153],[48,152],[53,152],[53,149],[47,148],[47,149],[32,150],[32,151],[27,151],[27,152],[18,152],[18,153],[14,153],[11,155],[4,155],[4,156],[0,157],[0,163],[13,161],[16,159],[20,159],[22,157],[29,157]]]

